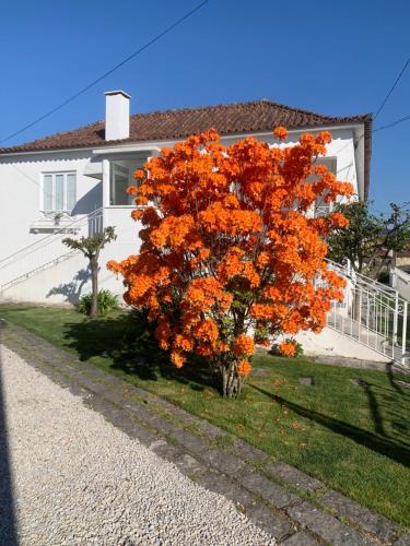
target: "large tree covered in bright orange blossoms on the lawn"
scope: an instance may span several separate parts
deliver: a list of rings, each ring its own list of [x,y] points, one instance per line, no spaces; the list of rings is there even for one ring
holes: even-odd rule
[[[254,138],[224,146],[210,130],[163,149],[128,189],[142,245],[107,265],[122,275],[126,302],[148,309],[172,363],[202,355],[225,396],[239,394],[256,343],[319,332],[342,297],[325,238],[347,222],[307,214],[319,195],[330,202],[352,191],[316,163],[329,142],[321,132],[282,149]],[[280,348],[291,355],[295,344]]]

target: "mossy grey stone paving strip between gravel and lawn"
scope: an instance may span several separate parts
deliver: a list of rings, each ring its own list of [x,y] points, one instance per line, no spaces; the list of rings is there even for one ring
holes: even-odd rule
[[[183,408],[78,360],[20,327],[7,324],[0,334],[1,343],[27,364],[80,395],[114,426],[202,487],[231,499],[279,543],[410,544],[399,525],[293,466],[272,462],[267,453]],[[221,448],[221,439],[231,441]]]

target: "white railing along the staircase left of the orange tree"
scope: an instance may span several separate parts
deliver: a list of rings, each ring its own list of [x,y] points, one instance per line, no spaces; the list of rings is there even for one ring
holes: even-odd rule
[[[103,209],[78,218],[52,234],[27,245],[0,260],[0,293],[36,272],[77,253],[63,245],[70,235],[89,237],[103,230]]]

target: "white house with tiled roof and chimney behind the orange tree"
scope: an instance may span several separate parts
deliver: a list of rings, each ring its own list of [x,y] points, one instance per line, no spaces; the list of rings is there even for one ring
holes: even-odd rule
[[[296,142],[303,132],[328,130],[332,142],[320,161],[339,179],[353,185],[356,199],[367,197],[370,114],[331,117],[257,100],[130,116],[127,93],[113,91],[105,96],[105,120],[0,149],[0,298],[3,300],[77,302],[81,294],[91,289],[90,272],[82,254],[70,251],[61,240],[67,234],[86,236],[103,226],[115,226],[118,238],[102,252],[99,285],[121,294],[121,282],[106,270],[105,263],[121,260],[139,249],[140,226],[130,218],[133,206],[126,193],[126,188],[134,182],[132,174],[163,146],[169,147],[211,127],[220,132],[224,144],[255,135],[277,145],[272,130],[278,126],[289,130],[283,145]],[[314,213],[323,214],[326,206],[317,203]],[[366,324],[363,325],[363,316],[359,319],[351,316],[348,304],[344,316],[340,308],[335,308],[328,328],[320,334],[320,351],[327,355],[339,353],[374,359],[377,353],[384,360],[396,358],[391,347],[397,345],[397,332],[387,336],[374,332],[370,301],[376,309],[372,292],[375,288],[372,285],[368,292],[366,280],[362,281],[352,283],[353,289],[364,295],[361,301],[366,302]],[[377,294],[380,294],[378,305],[384,295]],[[304,334],[303,343],[317,352],[317,340],[313,334],[308,339]],[[387,356],[386,347],[390,347]],[[401,351],[400,358],[403,354]]]

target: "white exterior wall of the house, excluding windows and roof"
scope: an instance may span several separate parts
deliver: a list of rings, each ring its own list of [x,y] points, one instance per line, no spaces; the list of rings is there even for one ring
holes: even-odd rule
[[[337,129],[331,132],[333,141],[328,145],[328,155],[337,157],[337,176],[339,179],[350,181],[354,191],[358,192],[353,129]],[[280,145],[294,145],[300,135],[301,131],[290,133],[289,140]],[[256,136],[271,145],[278,145],[270,134],[261,133]],[[223,143],[231,144],[238,138],[238,135],[225,136]],[[145,150],[159,149],[163,145],[172,146],[175,142],[144,143],[143,146]],[[120,147],[122,151],[131,153],[136,146]],[[31,225],[40,217],[42,174],[75,170],[78,202],[73,213],[81,217],[101,207],[104,203],[104,225],[115,226],[118,235],[117,240],[102,252],[99,260],[101,287],[109,288],[117,294],[124,292],[121,282],[107,272],[105,263],[112,259],[122,260],[130,253],[138,252],[140,247],[138,233],[141,226],[130,218],[132,206],[108,205],[109,168],[107,157],[109,154],[92,150],[0,156],[0,286],[13,278],[12,266],[2,269],[2,260],[4,263],[4,258],[45,237],[44,233],[31,232]],[[86,176],[91,173],[102,174],[103,182]],[[56,258],[65,252],[66,247],[62,245],[56,247]],[[20,259],[23,254],[24,252],[21,253]],[[42,257],[38,256],[38,264],[40,264],[40,260]],[[10,260],[7,263],[10,263]],[[15,276],[17,275],[15,274]],[[2,297],[21,301],[73,304],[77,302],[81,294],[90,292],[90,289],[91,282],[90,273],[86,270],[86,260],[81,253],[75,253],[60,263],[45,268],[30,278],[21,280],[13,287],[7,289]]]

